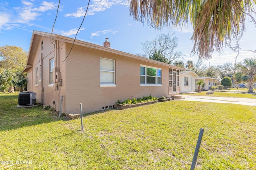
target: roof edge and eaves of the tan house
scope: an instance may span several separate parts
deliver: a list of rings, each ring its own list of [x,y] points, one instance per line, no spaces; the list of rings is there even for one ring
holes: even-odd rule
[[[73,38],[65,37],[65,36],[62,36],[62,35],[46,33],[46,32],[42,32],[42,31],[33,31],[31,42],[30,42],[30,47],[29,47],[29,51],[28,51],[28,57],[27,57],[27,61],[26,61],[26,67],[22,70],[22,72],[27,72],[31,68],[32,61],[33,61],[32,59],[33,59],[34,55],[36,54],[36,50],[37,50],[38,44],[40,43],[40,39],[41,39],[42,36],[43,37],[48,37],[52,40],[64,41],[64,42],[70,43],[70,44],[73,44],[73,42],[74,42]],[[148,58],[145,58],[145,57],[140,57],[138,55],[125,53],[125,52],[122,52],[122,51],[118,51],[118,50],[111,49],[111,48],[108,48],[108,47],[103,47],[103,46],[100,46],[100,45],[88,43],[88,42],[85,42],[85,41],[80,41],[80,40],[77,40],[77,39],[74,42],[74,45],[80,45],[80,46],[83,46],[83,47],[96,49],[96,50],[99,50],[99,51],[104,51],[106,53],[122,55],[124,57],[128,57],[128,58],[131,58],[131,59],[136,59],[136,60],[140,60],[140,61],[145,61],[145,62],[148,62],[148,63],[160,64],[162,66],[168,66],[168,67],[172,67],[172,68],[178,69],[178,70],[185,70],[184,68],[180,68],[178,66],[174,66],[174,65],[171,65],[171,64],[167,64],[167,63],[162,63],[160,61],[148,59]]]

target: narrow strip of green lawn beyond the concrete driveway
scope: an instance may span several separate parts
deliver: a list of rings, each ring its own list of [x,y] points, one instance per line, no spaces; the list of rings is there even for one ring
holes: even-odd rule
[[[181,94],[181,95],[256,99],[256,94],[232,93],[232,92],[214,92],[214,94],[206,94],[206,91],[203,91],[203,92],[200,92],[200,93],[194,93],[194,94],[184,93],[184,94]]]

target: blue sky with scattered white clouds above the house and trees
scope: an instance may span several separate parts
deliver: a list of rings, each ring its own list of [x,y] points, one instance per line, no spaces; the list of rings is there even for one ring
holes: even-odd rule
[[[58,2],[58,0],[0,0],[0,46],[15,45],[28,51],[33,30],[52,32]],[[88,0],[60,0],[54,33],[74,38],[87,4]],[[245,29],[246,32],[239,41],[244,52],[240,52],[238,62],[245,58],[256,57],[256,53],[251,52],[256,50],[256,26],[248,20]],[[196,56],[190,56],[194,45],[190,40],[193,31],[191,25],[182,29],[164,28],[156,31],[146,23],[142,24],[132,19],[127,0],[91,0],[77,39],[103,45],[105,38],[108,37],[112,49],[136,54],[143,53],[142,42],[150,41],[156,35],[168,31],[174,31],[178,37],[177,50],[184,54],[182,61],[196,62]],[[204,61],[204,64],[235,63],[236,54],[224,47],[221,54],[214,52],[212,59]]]

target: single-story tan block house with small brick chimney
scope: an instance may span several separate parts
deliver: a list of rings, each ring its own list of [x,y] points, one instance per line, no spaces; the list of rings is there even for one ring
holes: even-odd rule
[[[79,113],[114,107],[117,100],[170,97],[180,92],[183,68],[61,35],[34,31],[26,68],[28,91],[57,111]],[[118,42],[116,42],[118,43]],[[71,52],[70,49],[72,48]]]

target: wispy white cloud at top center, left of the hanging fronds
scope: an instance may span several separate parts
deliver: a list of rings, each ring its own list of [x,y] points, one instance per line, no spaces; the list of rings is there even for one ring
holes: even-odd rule
[[[113,5],[125,5],[129,6],[128,0],[93,0],[93,3],[89,5],[87,16],[94,15],[96,12],[104,11],[108,8],[111,8]],[[82,17],[86,12],[86,8],[80,7],[77,8],[76,12],[65,14],[65,17]]]

